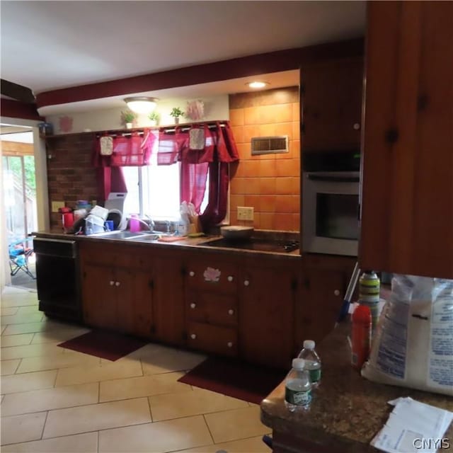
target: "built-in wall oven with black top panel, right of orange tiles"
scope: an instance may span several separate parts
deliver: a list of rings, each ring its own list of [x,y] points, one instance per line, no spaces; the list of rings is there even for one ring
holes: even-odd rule
[[[331,154],[304,156],[302,250],[357,256],[360,154]]]

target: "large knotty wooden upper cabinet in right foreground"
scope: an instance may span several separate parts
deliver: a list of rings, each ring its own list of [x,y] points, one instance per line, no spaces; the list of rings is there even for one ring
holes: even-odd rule
[[[367,8],[360,268],[453,278],[453,2]]]

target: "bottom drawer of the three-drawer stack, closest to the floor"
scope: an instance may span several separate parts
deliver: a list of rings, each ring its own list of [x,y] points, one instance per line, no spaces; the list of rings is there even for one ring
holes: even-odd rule
[[[221,355],[237,355],[238,334],[235,328],[212,326],[197,322],[188,322],[187,326],[188,346],[190,348],[215,352]]]

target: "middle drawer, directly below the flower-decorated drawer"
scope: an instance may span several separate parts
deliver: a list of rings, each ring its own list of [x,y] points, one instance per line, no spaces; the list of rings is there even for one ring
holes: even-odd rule
[[[236,326],[238,323],[236,297],[212,292],[188,290],[185,296],[185,314],[190,321]]]

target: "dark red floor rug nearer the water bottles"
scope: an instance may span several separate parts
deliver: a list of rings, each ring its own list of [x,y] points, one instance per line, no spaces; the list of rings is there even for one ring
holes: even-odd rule
[[[178,381],[259,404],[285,379],[286,374],[284,370],[208,357]]]

